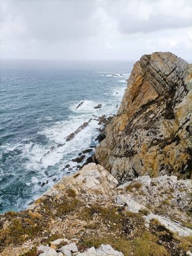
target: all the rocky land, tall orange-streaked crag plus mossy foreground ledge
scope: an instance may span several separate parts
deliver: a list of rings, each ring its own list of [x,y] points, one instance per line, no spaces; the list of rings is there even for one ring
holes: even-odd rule
[[[191,69],[172,53],[141,57],[98,137],[101,165],[0,215],[0,255],[191,256]]]

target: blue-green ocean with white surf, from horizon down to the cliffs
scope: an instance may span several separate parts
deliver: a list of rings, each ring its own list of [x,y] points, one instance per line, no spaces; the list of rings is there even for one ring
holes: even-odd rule
[[[77,172],[72,159],[97,145],[98,117],[117,113],[132,68],[126,61],[0,61],[0,213],[24,210]]]

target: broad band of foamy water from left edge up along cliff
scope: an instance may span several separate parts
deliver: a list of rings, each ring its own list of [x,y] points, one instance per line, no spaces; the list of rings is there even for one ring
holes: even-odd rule
[[[102,72],[98,71],[98,73]],[[18,172],[10,170],[11,177],[5,183],[5,186],[17,184],[18,180],[24,183],[22,197],[13,198],[17,201],[16,208],[18,207],[21,210],[32,199],[38,198],[44,191],[49,189],[61,177],[76,172],[78,163],[73,162],[72,159],[77,158],[79,152],[86,150],[90,146],[96,146],[98,141],[95,141],[95,139],[100,127],[98,125],[98,117],[102,115],[108,116],[117,112],[117,106],[120,104],[126,88],[125,79],[129,74],[121,75],[119,73],[123,81],[119,80],[119,75],[111,77],[113,75],[111,72],[106,72],[106,75],[108,75],[108,81],[113,81],[113,86],[111,86],[111,90],[104,92],[106,96],[102,97],[103,100],[82,98],[73,101],[69,106],[70,115],[66,120],[51,123],[54,120],[54,116],[44,115],[39,117],[37,121],[42,122],[45,120],[46,127],[42,127],[34,137],[22,139],[20,143],[7,143],[2,146],[3,148],[1,147],[5,154],[8,153],[10,155],[10,161],[13,160],[20,164]],[[104,81],[106,80],[104,79]],[[117,83],[117,86],[115,83]],[[81,102],[84,103],[77,108]],[[94,108],[98,104],[102,104],[102,107]],[[66,141],[66,137],[69,134],[90,119],[92,120],[87,127],[77,133],[71,141]],[[86,158],[92,153],[93,151],[86,154]],[[65,168],[67,164],[70,165],[69,168]],[[5,175],[1,169],[0,172],[2,174],[1,179],[3,179]],[[14,189],[17,191],[18,187]],[[28,199],[29,197],[30,199]],[[5,202],[5,197],[2,200]],[[0,198],[0,203],[2,200]],[[9,205],[9,202],[7,201],[6,204]]]

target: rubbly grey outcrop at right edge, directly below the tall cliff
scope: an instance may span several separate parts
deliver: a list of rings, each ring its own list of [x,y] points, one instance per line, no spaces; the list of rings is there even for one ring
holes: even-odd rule
[[[192,205],[192,181],[177,180],[176,176],[163,175],[152,178],[150,183],[142,183],[146,176],[137,177],[117,187],[117,191],[126,195],[141,205],[150,205],[150,210],[178,216],[179,211],[190,211]]]

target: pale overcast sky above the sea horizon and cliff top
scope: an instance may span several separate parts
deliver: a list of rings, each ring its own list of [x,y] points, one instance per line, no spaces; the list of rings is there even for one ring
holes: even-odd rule
[[[0,58],[192,59],[191,0],[0,0]]]

